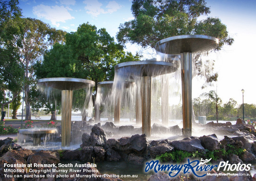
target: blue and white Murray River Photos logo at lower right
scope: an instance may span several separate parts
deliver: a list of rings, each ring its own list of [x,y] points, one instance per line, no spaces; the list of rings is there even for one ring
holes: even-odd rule
[[[214,168],[217,168],[217,171],[222,169],[223,171],[249,171],[251,164],[229,164],[229,161],[221,161],[219,165],[207,165],[211,161],[209,160],[194,160],[190,161],[188,159],[188,163],[186,164],[160,164],[158,160],[146,162],[145,172],[150,170],[157,173],[158,171],[167,171],[170,177],[177,176],[182,170],[183,173],[193,173],[197,177],[205,176],[208,171],[211,171]]]

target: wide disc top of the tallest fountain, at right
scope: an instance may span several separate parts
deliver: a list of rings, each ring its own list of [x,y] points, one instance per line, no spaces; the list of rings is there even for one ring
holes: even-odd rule
[[[172,36],[156,43],[155,49],[164,54],[206,52],[218,46],[219,40],[207,35]]]

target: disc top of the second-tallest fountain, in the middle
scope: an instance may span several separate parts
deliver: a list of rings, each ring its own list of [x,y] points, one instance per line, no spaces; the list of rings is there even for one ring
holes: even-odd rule
[[[175,72],[177,66],[174,63],[166,61],[128,61],[117,64],[115,71],[119,70],[122,74],[130,76],[158,76]],[[130,78],[132,79],[132,77]]]

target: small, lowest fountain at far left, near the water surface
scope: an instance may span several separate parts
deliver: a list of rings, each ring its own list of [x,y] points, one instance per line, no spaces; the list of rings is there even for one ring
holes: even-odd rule
[[[19,129],[18,130],[18,140],[23,142],[24,135],[25,137],[30,136],[33,138],[33,146],[41,145],[41,137],[47,136],[49,134],[54,134],[57,132],[57,129],[49,128],[34,128],[34,129]]]

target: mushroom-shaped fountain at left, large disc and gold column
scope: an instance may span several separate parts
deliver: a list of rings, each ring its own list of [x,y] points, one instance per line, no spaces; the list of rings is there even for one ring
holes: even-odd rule
[[[95,82],[77,78],[44,78],[38,85],[61,90],[61,146],[70,146],[73,90],[94,87]]]

